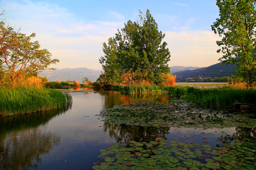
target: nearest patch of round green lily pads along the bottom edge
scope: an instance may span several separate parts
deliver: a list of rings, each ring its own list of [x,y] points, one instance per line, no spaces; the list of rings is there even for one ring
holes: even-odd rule
[[[207,144],[186,144],[156,137],[155,141],[130,141],[101,149],[96,170],[255,170],[255,140],[225,144],[212,150]]]

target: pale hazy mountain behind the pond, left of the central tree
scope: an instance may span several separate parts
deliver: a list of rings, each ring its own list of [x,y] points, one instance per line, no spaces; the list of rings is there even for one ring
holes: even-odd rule
[[[82,78],[86,76],[89,81],[95,82],[99,78],[101,70],[94,70],[89,68],[56,68],[55,70],[43,70],[38,76],[46,76],[48,81],[67,81],[77,80],[82,82]]]

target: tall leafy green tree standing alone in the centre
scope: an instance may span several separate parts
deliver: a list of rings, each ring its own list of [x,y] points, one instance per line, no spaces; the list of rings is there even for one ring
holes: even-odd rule
[[[109,82],[120,83],[123,73],[134,73],[159,84],[162,74],[170,71],[170,52],[167,43],[162,43],[165,34],[158,31],[149,10],[145,16],[140,11],[139,17],[137,22],[129,20],[108,44],[103,43],[105,55],[100,63]]]

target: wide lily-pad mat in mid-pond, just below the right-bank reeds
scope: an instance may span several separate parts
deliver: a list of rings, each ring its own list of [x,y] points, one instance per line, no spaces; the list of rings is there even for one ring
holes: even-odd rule
[[[105,111],[104,117],[111,124],[147,127],[256,127],[253,118],[189,102],[122,104]]]

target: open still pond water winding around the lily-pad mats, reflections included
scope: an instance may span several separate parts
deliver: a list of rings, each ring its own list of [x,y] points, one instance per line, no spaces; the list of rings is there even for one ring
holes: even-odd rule
[[[139,100],[167,102],[168,97],[93,91],[71,95],[71,109],[0,119],[1,170],[91,170],[101,149],[117,142],[137,141],[145,134],[145,140],[162,135],[167,140],[200,144],[207,138],[215,147],[220,144],[218,137],[236,132],[236,127],[156,129],[110,125],[102,121],[103,110]]]

